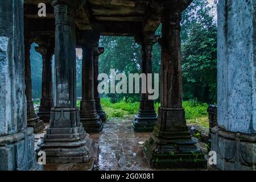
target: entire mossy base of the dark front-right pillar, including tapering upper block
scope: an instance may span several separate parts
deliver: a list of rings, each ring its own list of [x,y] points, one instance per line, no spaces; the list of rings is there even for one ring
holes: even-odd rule
[[[185,124],[184,114],[183,108],[159,108],[158,122],[143,147],[151,168],[207,168],[205,156]]]

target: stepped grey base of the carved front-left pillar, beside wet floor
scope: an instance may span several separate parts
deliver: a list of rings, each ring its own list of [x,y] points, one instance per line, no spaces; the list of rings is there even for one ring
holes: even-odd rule
[[[51,123],[36,152],[46,152],[46,164],[88,163],[98,151],[79,121],[77,108],[53,108]]]

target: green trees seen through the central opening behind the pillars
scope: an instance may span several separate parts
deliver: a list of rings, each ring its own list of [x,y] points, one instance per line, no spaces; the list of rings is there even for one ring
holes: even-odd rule
[[[110,69],[115,69],[115,74],[141,73],[141,46],[135,43],[133,37],[102,36],[100,45],[105,52],[100,56],[99,72],[110,75]],[[153,47],[152,70],[153,73],[160,71],[160,46]],[[128,85],[127,85],[128,86]],[[141,94],[107,94],[110,101],[117,103],[125,98],[126,102],[141,100]]]

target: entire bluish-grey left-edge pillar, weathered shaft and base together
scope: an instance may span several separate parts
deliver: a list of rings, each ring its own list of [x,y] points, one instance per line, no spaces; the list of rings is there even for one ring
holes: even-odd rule
[[[42,170],[27,128],[23,1],[0,3],[0,171]]]

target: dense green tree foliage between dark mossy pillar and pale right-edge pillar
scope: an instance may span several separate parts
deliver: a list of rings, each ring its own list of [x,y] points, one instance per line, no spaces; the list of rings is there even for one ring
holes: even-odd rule
[[[217,25],[206,0],[195,0],[183,13],[181,50],[183,100],[217,100]]]

